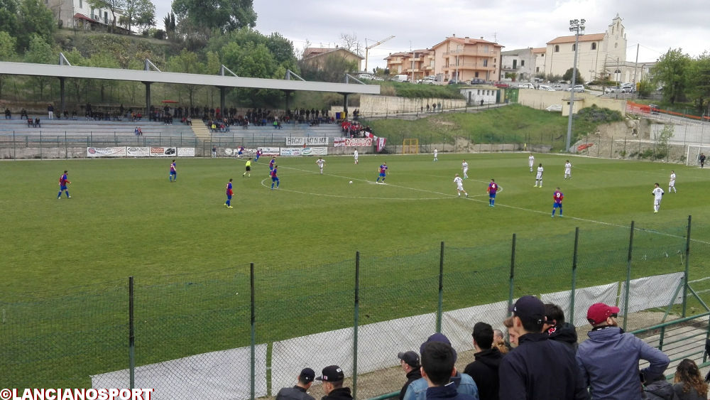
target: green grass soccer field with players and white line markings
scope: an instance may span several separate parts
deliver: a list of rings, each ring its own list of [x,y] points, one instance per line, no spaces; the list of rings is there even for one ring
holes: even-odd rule
[[[457,198],[453,182],[464,158],[469,163],[469,179],[464,180],[467,199]],[[167,158],[5,161],[0,164],[0,204],[4,206],[1,300],[5,304],[41,302],[110,288],[107,283],[111,282],[125,288],[128,276],[155,287],[232,276],[242,293],[239,296],[244,296],[237,306],[224,306],[224,297],[220,297],[222,290],[234,293],[231,287],[215,286],[219,293],[203,293],[187,305],[175,295],[163,298],[163,289],[155,289],[146,300],[155,309],[145,320],[169,320],[173,313],[190,315],[190,311],[222,306],[239,308],[234,314],[240,314],[246,310],[241,307],[249,304],[249,263],[253,262],[256,274],[266,276],[257,282],[258,301],[269,302],[271,307],[263,310],[273,313],[263,318],[271,325],[261,328],[265,333],[260,340],[278,340],[347,326],[351,314],[331,312],[327,306],[313,306],[317,312],[310,313],[307,323],[295,323],[297,315],[280,315],[278,306],[290,310],[293,306],[288,303],[308,296],[329,297],[324,293],[332,293],[331,298],[312,300],[314,305],[349,302],[337,298],[350,293],[351,283],[342,282],[351,282],[356,251],[368,260],[363,267],[364,290],[373,293],[370,298],[390,298],[364,304],[371,320],[362,323],[367,323],[432,311],[435,294],[427,306],[393,297],[416,296],[429,286],[435,291],[440,242],[452,249],[447,254],[449,296],[444,304],[452,309],[507,298],[513,234],[520,271],[516,296],[532,293],[533,288],[536,293],[569,289],[569,273],[562,274],[562,269],[567,271],[571,264],[576,227],[580,229],[580,254],[586,255],[587,265],[589,259],[595,260],[593,268],[580,271],[580,286],[623,280],[632,220],[641,229],[639,260],[645,257],[645,248],[667,249],[662,252],[670,254],[667,261],[655,259],[646,266],[638,261],[634,277],[682,271],[676,252],[684,248],[688,215],[693,217],[692,247],[697,252],[691,257],[691,276],[705,276],[705,260],[710,255],[706,206],[710,171],[535,154],[535,165],[542,163],[545,174],[543,188],[533,188],[535,175],[528,168],[528,153],[439,153],[437,162],[429,154],[361,156],[358,165],[350,156],[324,159],[320,175],[316,158],[277,158],[278,190],[271,190],[266,157],[253,166],[251,177],[242,176],[246,159],[180,158],[175,183],[168,180]],[[572,179],[564,180],[567,159],[572,162]],[[377,185],[378,166],[385,161],[389,167],[386,185]],[[653,183],[667,191],[672,169],[678,193],[666,193],[660,212],[654,214]],[[72,181],[72,198],[56,200],[58,178],[64,170]],[[229,178],[234,178],[232,209],[224,206]],[[486,188],[491,178],[501,187],[496,207],[488,207]],[[552,192],[557,187],[564,193],[563,218],[550,217]],[[231,267],[238,271],[236,275],[220,272]],[[187,277],[170,277],[180,274]],[[500,285],[481,284],[486,279]],[[120,291],[101,294],[105,302],[114,294],[124,298]],[[171,301],[180,302],[182,308],[170,308]],[[123,312],[110,309],[110,314]],[[80,319],[67,313],[67,321]],[[175,342],[162,338],[160,355],[143,358],[138,364],[245,345],[249,327],[244,321],[239,324],[239,340],[234,340],[234,331],[223,333],[228,329],[220,327],[209,333],[211,341],[190,342],[190,346],[185,346],[190,335],[168,330]],[[58,332],[66,329],[58,328]],[[155,327],[160,329],[160,325]],[[23,335],[16,330],[12,333]],[[104,357],[124,357],[121,350],[116,351]],[[118,365],[116,369],[123,364]],[[99,372],[111,370],[103,368]],[[92,372],[96,371],[89,369]],[[85,374],[82,370],[76,377],[51,383],[86,384]]]

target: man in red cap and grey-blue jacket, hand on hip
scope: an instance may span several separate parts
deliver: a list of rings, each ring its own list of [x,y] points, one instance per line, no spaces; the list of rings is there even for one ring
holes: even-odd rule
[[[590,388],[592,399],[640,400],[638,361],[650,363],[646,376],[663,374],[670,363],[667,355],[618,327],[619,308],[592,304],[586,319],[592,326],[589,340],[577,350],[577,364]]]

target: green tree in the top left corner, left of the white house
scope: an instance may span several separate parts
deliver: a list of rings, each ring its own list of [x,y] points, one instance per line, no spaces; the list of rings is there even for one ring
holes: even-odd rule
[[[18,13],[17,46],[18,50],[29,48],[33,35],[39,36],[45,43],[54,43],[54,15],[41,0],[22,0]]]

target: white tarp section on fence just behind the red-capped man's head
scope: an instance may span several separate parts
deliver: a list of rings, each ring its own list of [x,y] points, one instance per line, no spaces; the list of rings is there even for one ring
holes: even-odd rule
[[[586,320],[586,310],[594,303],[616,304],[616,293],[619,283],[608,283],[606,285],[591,286],[589,288],[577,288],[574,292],[574,321],[569,320],[569,291],[545,293],[540,296],[542,303],[557,304],[564,311],[566,322],[574,326],[582,326],[589,323]]]

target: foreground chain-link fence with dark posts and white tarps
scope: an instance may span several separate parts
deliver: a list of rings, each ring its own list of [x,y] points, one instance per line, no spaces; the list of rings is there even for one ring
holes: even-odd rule
[[[462,370],[473,360],[474,323],[503,328],[508,304],[525,294],[559,304],[577,326],[596,301],[628,310],[628,330],[706,313],[710,242],[689,240],[690,222],[32,293],[0,303],[0,386],[252,399],[293,386],[303,367],[320,374],[337,364],[356,398],[378,396],[405,380],[397,353],[418,352],[435,332],[452,340]],[[695,280],[685,285],[687,275]]]

